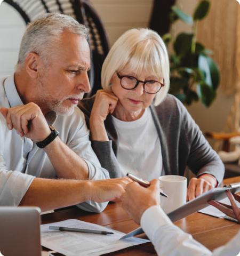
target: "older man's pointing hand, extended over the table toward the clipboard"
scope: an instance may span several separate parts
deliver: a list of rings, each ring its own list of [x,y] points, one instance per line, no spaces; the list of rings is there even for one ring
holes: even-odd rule
[[[122,196],[125,187],[129,182],[129,178],[109,179],[109,180],[91,180],[89,182],[90,200],[102,203],[106,201],[114,201]]]

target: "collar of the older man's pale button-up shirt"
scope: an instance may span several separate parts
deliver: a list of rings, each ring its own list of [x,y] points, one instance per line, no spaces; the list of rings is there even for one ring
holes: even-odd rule
[[[23,102],[18,94],[17,88],[14,82],[14,75],[7,77],[4,81],[4,90],[10,107],[16,107],[23,105]],[[58,115],[55,111],[50,111],[46,114],[45,118],[49,125],[53,125]]]

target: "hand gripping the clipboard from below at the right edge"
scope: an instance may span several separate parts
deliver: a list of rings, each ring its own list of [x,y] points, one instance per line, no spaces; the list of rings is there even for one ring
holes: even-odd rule
[[[209,201],[209,204],[216,207],[218,210],[227,214],[231,218],[237,219],[240,222],[240,209],[237,207],[237,204],[234,200],[235,198],[238,202],[240,202],[240,196],[237,194],[233,195],[229,191],[226,191],[226,194],[230,200],[231,205],[223,204],[221,202],[217,202],[213,200]]]

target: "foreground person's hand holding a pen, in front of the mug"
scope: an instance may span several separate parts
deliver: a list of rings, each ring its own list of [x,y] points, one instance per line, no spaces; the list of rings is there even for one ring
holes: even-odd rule
[[[143,212],[150,206],[160,205],[159,180],[152,180],[148,188],[132,182],[125,190],[126,193],[121,197],[123,209],[137,223],[140,223]]]

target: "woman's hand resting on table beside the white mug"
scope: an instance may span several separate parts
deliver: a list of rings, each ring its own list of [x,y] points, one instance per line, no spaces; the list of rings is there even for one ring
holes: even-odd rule
[[[213,189],[217,180],[210,174],[203,174],[198,178],[192,178],[188,185],[187,201],[191,201],[203,193]]]

